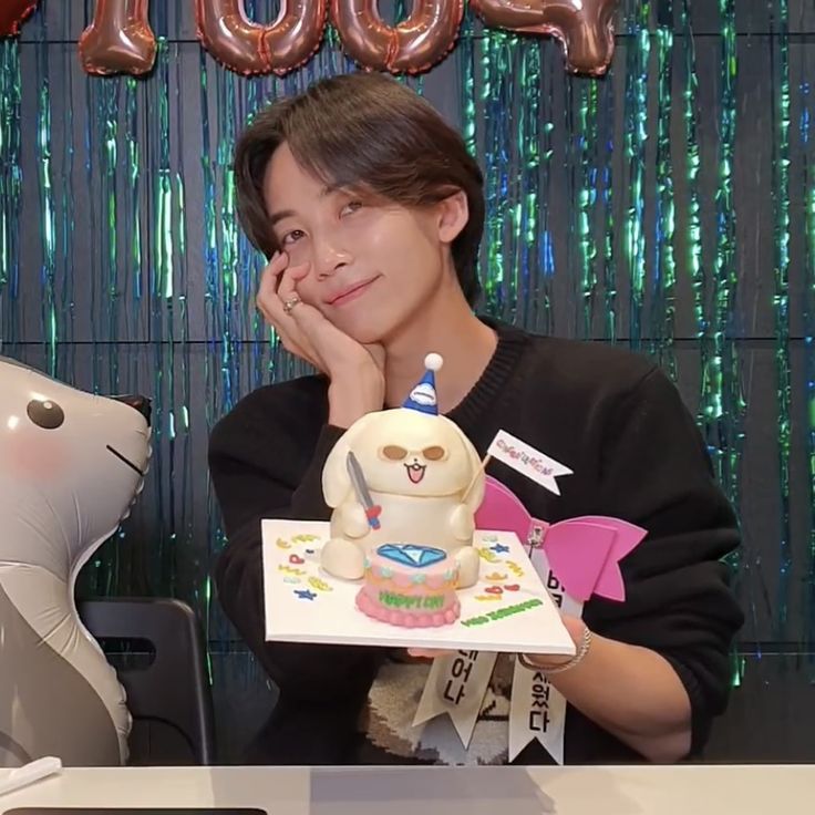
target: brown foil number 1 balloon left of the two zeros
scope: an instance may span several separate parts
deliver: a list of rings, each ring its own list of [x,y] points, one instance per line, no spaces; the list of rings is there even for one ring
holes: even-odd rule
[[[87,73],[147,73],[156,59],[156,38],[147,21],[149,0],[96,0],[93,22],[80,37]]]

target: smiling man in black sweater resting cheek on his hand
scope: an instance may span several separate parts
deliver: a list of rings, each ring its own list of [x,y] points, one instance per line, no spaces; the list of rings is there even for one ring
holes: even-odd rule
[[[622,563],[626,602],[592,599],[582,620],[565,618],[580,659],[527,658],[553,671],[569,702],[566,762],[698,753],[725,706],[742,623],[720,564],[739,533],[673,385],[622,350],[473,313],[482,174],[458,134],[393,80],[340,76],[274,104],[244,133],[236,175],[243,225],[270,258],[258,306],[285,347],[321,372],[255,391],[212,437],[229,539],[218,594],[280,689],[255,760],[450,756],[431,736],[414,744],[398,732],[417,693],[400,675],[426,664],[264,640],[261,518],[328,518],[320,476],[329,451],[361,415],[400,405],[431,351],[444,358],[439,409],[482,455],[503,429],[574,471],[555,496],[489,465],[533,516],[602,514],[649,533]],[[495,675],[470,756],[482,763],[506,760],[508,688]],[[537,744],[518,757],[549,761]]]

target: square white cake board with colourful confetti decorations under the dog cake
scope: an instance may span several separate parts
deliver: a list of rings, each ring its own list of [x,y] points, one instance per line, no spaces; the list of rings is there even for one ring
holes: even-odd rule
[[[481,579],[458,592],[460,619],[440,628],[400,628],[362,613],[355,605],[362,581],[340,580],[320,568],[328,535],[328,523],[320,520],[262,522],[267,640],[575,653],[555,602],[513,533],[476,533]]]

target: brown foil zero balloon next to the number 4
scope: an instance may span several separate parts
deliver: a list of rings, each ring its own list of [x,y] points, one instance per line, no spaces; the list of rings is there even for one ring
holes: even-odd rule
[[[331,0],[331,18],[345,53],[378,71],[420,73],[455,44],[463,0],[413,0],[410,17],[388,25],[376,0]]]

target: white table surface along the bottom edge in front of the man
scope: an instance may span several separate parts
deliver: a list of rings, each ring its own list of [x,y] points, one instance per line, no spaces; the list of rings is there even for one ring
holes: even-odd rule
[[[254,806],[269,815],[812,814],[815,765],[68,768],[0,796],[0,815],[116,805]]]

